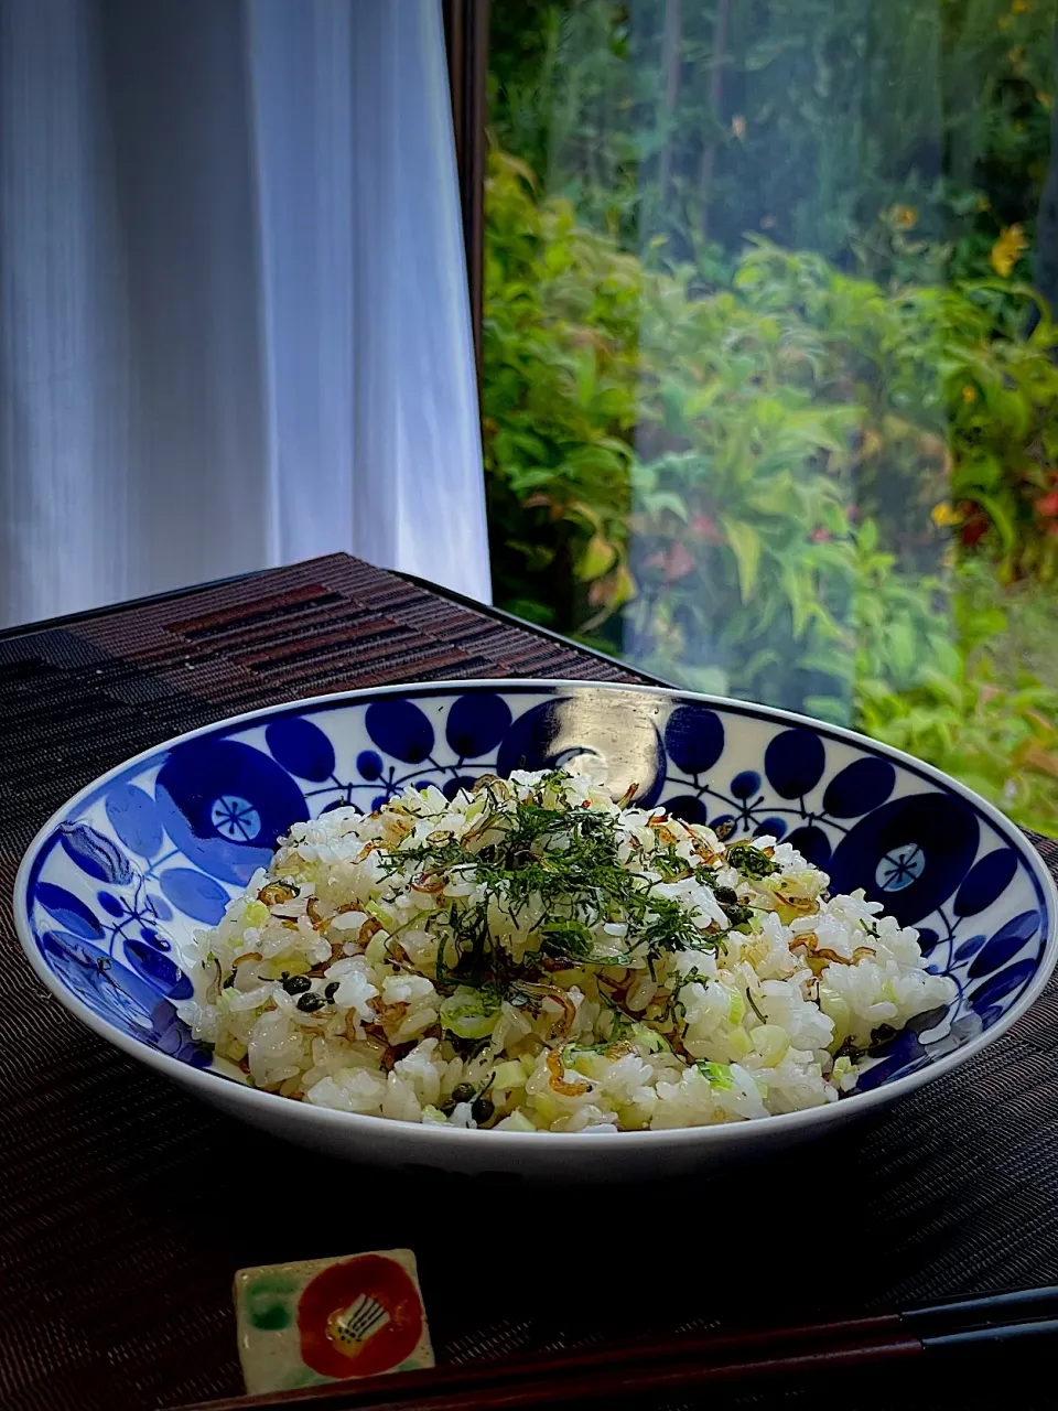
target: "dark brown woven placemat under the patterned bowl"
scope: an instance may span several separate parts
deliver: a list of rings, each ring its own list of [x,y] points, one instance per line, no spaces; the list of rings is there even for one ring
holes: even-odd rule
[[[444,1360],[701,1325],[721,1307],[789,1318],[835,1298],[1058,1283],[1055,983],[976,1061],[870,1126],[708,1181],[567,1191],[394,1178],[275,1143],[42,993],[10,895],[32,834],[75,789],[255,706],[473,676],[636,679],[346,556],[0,641],[7,1411],[234,1394],[237,1267],[387,1245],[416,1250]],[[1058,869],[1058,847],[1038,845]],[[1052,1400],[1020,1393],[1019,1407]]]

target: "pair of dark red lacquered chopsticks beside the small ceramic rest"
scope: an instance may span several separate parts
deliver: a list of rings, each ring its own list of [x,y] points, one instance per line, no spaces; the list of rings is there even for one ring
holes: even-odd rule
[[[614,1401],[756,1379],[959,1356],[1023,1339],[1058,1345],[1058,1288],[948,1300],[804,1326],[697,1333],[518,1362],[463,1363],[298,1391],[197,1403],[182,1411],[519,1411]]]

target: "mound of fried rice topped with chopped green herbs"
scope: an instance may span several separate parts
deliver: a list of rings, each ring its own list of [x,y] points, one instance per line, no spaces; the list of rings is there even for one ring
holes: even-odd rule
[[[197,933],[221,1072],[401,1122],[628,1132],[837,1102],[954,998],[914,928],[772,837],[587,777],[408,789],[295,824]]]

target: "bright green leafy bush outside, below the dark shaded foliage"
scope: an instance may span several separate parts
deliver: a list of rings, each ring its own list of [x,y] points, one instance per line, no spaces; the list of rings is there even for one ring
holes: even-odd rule
[[[1048,571],[1034,477],[1058,395],[1050,320],[989,339],[987,282],[894,299],[765,241],[695,291],[691,267],[647,270],[568,202],[537,202],[499,152],[487,209],[482,412],[508,607],[659,674],[894,742],[927,700],[938,721],[956,713],[955,690],[975,720],[980,700],[1017,717],[1031,758],[1050,758],[1031,682],[993,690],[983,653],[966,674],[947,581],[952,532],[962,543],[982,514],[1007,576]],[[1006,428],[986,504],[972,477],[1003,432],[968,385]],[[992,745],[1007,739],[995,728]],[[942,738],[921,734],[918,752],[938,758]],[[1024,809],[1040,821],[1038,801]]]

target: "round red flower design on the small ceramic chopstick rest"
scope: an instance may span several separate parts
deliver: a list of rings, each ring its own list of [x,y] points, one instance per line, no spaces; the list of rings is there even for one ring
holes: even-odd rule
[[[422,1336],[422,1304],[392,1259],[364,1254],[332,1264],[298,1302],[302,1357],[324,1377],[371,1377],[409,1357]]]

